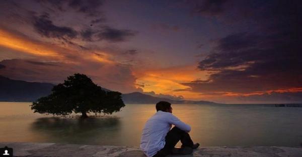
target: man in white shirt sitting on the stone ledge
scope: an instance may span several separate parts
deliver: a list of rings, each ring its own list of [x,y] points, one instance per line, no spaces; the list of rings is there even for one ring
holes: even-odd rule
[[[199,143],[194,144],[189,133],[190,125],[172,114],[171,103],[160,101],[156,104],[157,113],[150,117],[143,130],[140,148],[148,157],[164,157],[170,153],[190,154]],[[175,125],[172,129],[171,126]],[[170,130],[171,129],[171,130]],[[174,146],[181,141],[181,148]]]

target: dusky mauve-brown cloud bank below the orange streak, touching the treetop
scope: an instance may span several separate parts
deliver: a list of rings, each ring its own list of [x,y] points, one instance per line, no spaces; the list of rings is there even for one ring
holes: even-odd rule
[[[12,59],[0,62],[0,75],[29,82],[61,83],[67,76],[84,73],[98,85],[120,92],[139,91],[134,86],[135,76],[130,67],[110,64],[97,64],[82,61],[63,63],[38,59]],[[47,74],[47,75],[46,75]]]

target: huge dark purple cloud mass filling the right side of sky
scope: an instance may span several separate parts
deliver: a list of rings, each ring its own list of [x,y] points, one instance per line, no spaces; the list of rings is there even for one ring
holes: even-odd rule
[[[249,20],[254,22],[253,29],[219,39],[199,62],[200,70],[213,72],[209,79],[184,85],[198,92],[255,92],[302,86],[301,1],[269,1],[252,10]]]

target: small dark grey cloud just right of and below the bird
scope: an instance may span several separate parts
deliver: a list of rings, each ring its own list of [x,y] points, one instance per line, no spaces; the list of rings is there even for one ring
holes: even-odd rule
[[[130,30],[118,30],[110,27],[104,27],[97,34],[98,40],[106,40],[109,42],[122,42],[128,37],[133,37],[135,33]]]

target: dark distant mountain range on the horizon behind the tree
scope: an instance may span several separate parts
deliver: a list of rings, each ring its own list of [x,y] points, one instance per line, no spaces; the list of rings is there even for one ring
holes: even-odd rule
[[[7,77],[0,76],[0,101],[28,101],[32,102],[42,96],[50,94],[54,84],[26,82],[20,80],[12,80]],[[103,88],[105,91],[109,89]],[[191,101],[191,100],[171,100],[167,98],[154,97],[140,92],[122,94],[124,103],[152,103],[159,101],[168,101],[172,104],[216,104],[210,101]]]

